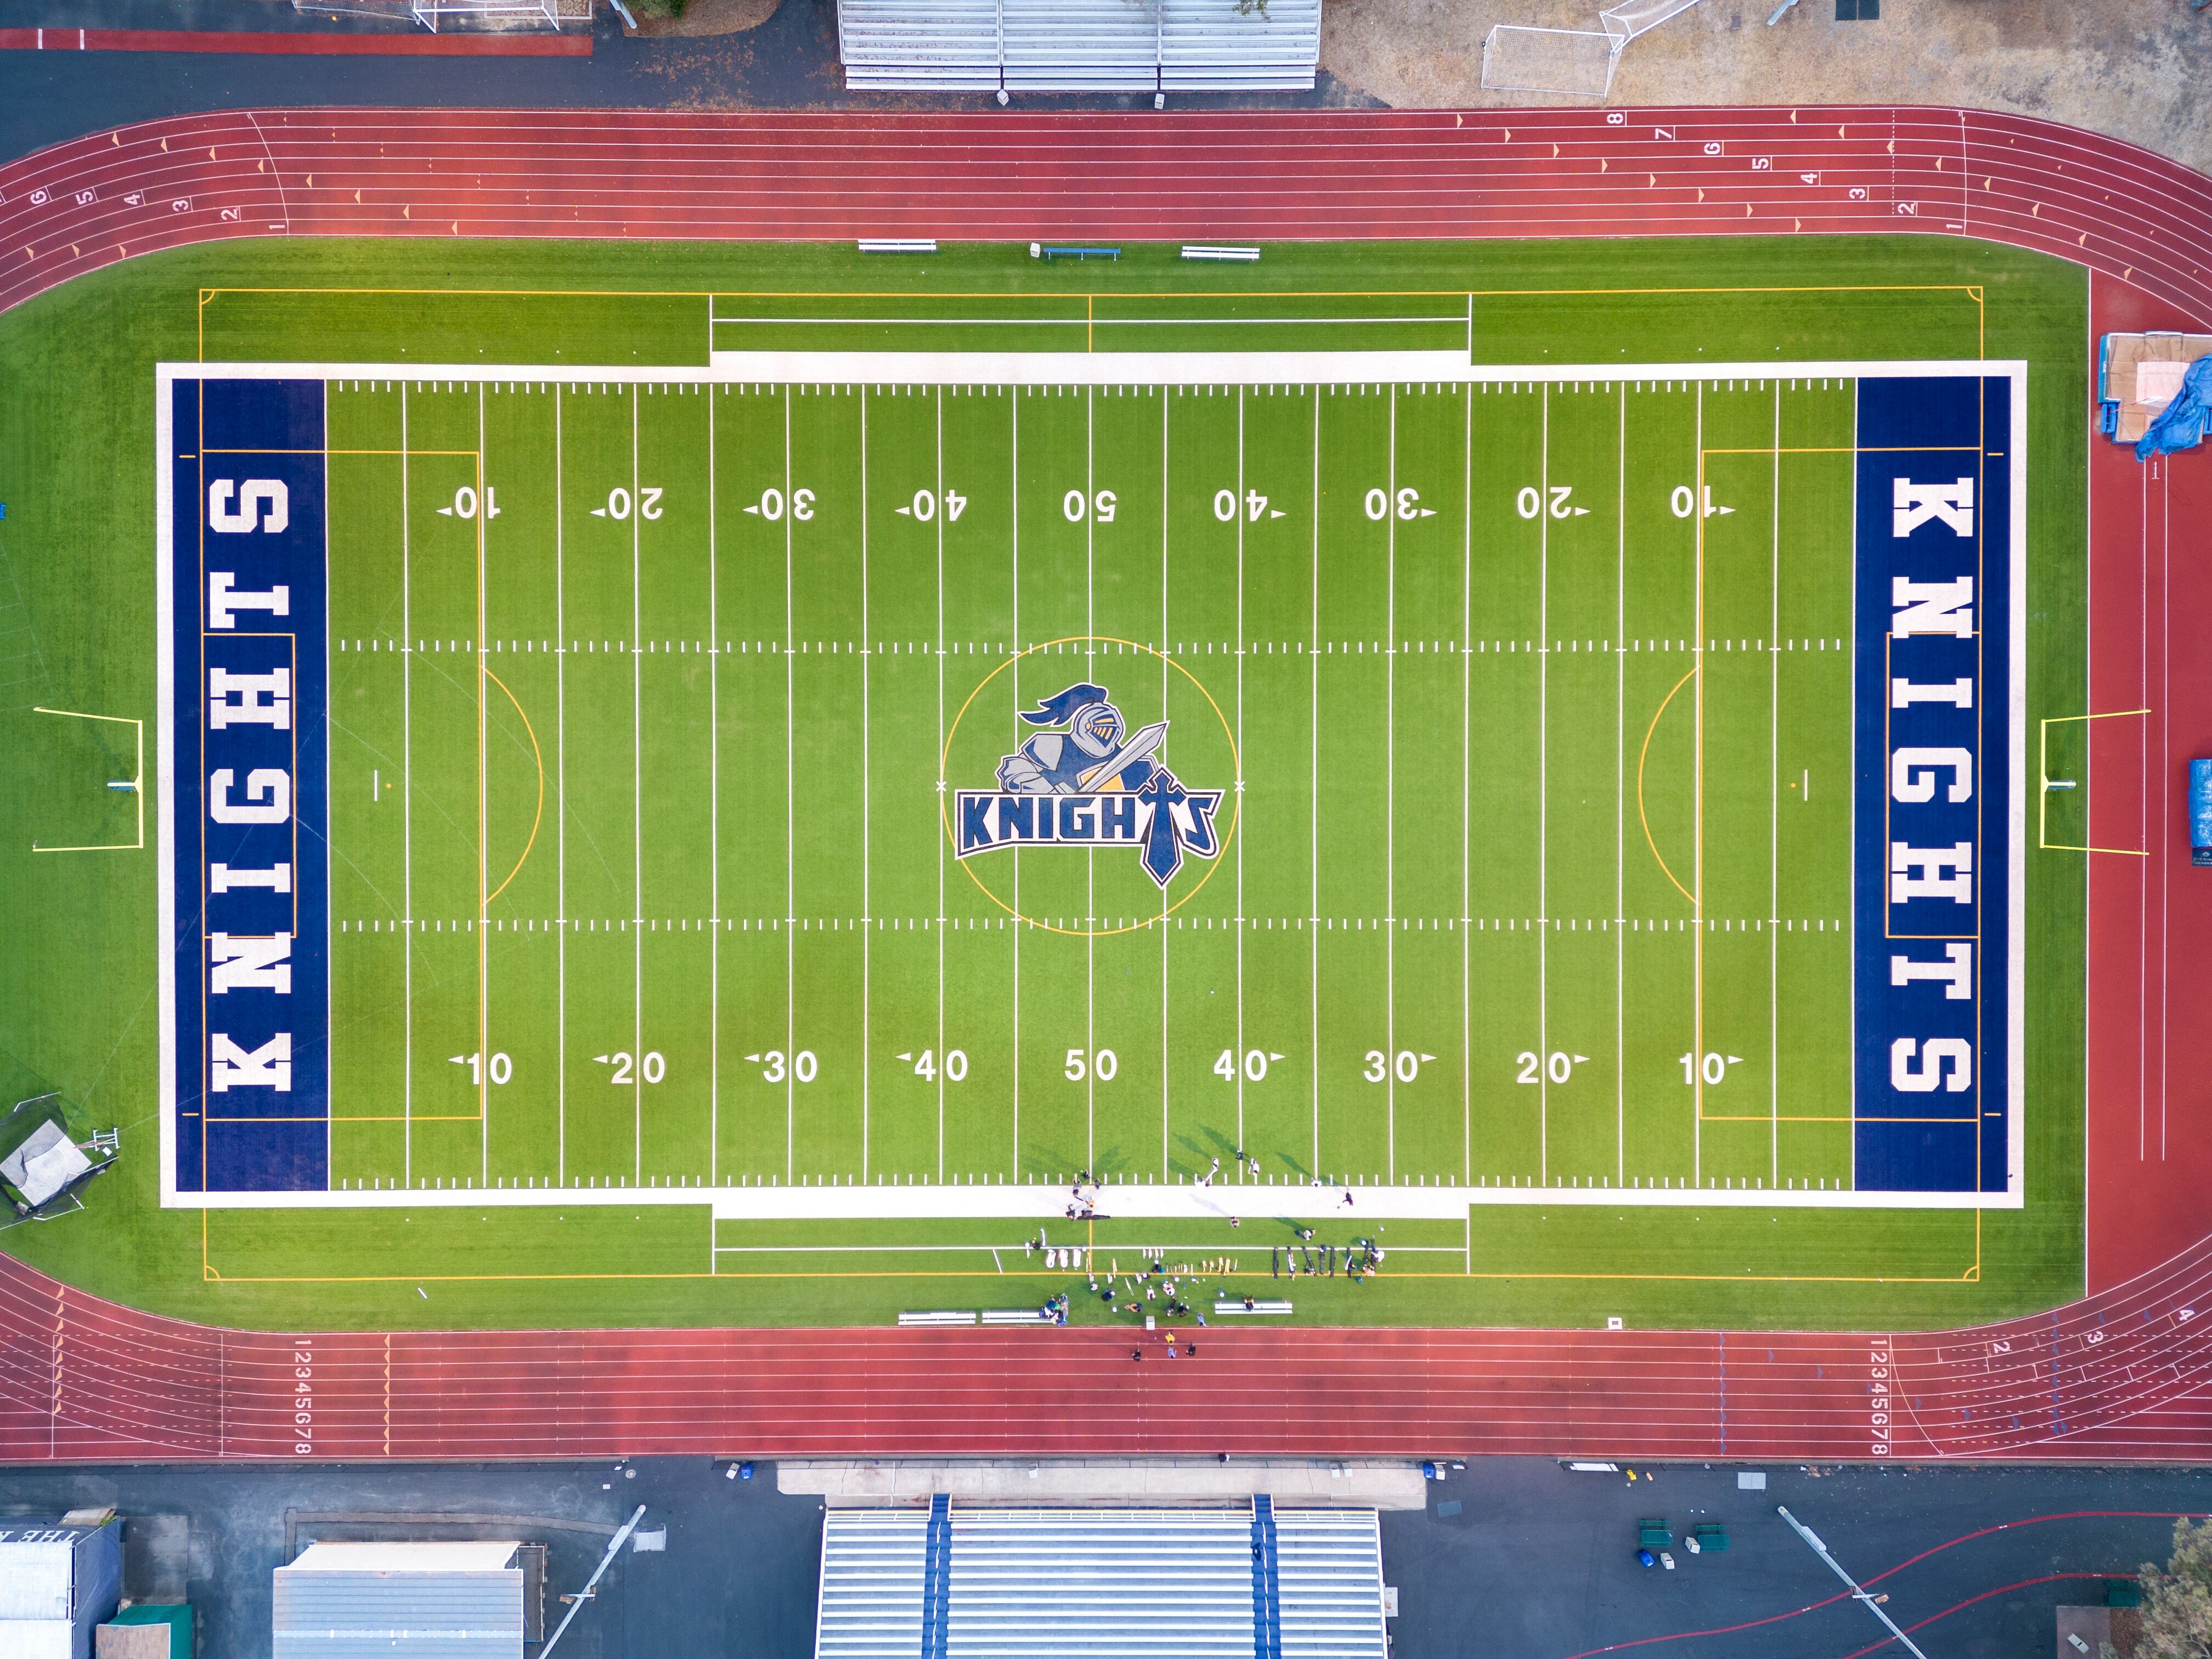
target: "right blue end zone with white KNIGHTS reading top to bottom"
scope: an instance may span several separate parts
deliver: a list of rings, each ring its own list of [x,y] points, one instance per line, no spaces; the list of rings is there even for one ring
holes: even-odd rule
[[[1858,383],[1854,1186],[2004,1192],[2013,385]]]

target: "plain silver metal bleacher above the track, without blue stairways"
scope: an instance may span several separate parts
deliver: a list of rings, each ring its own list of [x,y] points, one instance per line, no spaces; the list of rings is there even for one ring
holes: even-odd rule
[[[849,88],[1312,91],[1321,0],[838,0]]]

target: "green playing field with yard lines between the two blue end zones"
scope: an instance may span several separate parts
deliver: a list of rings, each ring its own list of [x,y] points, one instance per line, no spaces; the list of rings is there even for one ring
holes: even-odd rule
[[[341,385],[336,1186],[1849,1186],[1849,420]],[[1228,790],[1166,891],[947,856],[1077,679]]]

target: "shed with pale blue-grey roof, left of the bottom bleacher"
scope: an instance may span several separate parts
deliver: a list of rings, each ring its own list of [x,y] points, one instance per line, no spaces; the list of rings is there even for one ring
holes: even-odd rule
[[[310,1544],[276,1568],[274,1659],[522,1659],[518,1542]]]

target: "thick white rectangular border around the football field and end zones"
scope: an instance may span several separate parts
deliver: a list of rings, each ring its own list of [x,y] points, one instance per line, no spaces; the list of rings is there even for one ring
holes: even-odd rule
[[[170,726],[173,484],[170,387],[177,380],[462,380],[493,385],[1650,385],[1663,380],[1860,380],[1980,376],[2011,380],[2011,646],[2008,728],[2013,761],[2006,962],[2008,1077],[2004,1192],[1836,1192],[1801,1188],[1562,1188],[1562,1186],[1108,1186],[1104,1219],[1265,1217],[1407,1217],[1464,1219],[1471,1206],[1637,1206],[1650,1210],[2020,1210],[2026,1203],[2026,491],[2028,365],[2024,358],[1907,358],[1818,363],[1562,363],[1482,365],[1464,352],[710,352],[708,367],[531,367],[487,363],[157,363],[155,365],[155,500],[157,500],[157,688],[155,745],[157,827],[157,989],[161,1009],[159,1139],[164,1210],[411,1210],[411,1208],[566,1208],[566,1206],[710,1206],[717,1221],[836,1219],[1066,1219],[1068,1188],[1006,1186],[692,1186],[692,1188],[396,1188],[330,1192],[179,1192],[175,1183],[177,984],[175,847]]]

